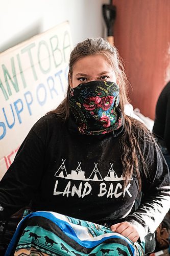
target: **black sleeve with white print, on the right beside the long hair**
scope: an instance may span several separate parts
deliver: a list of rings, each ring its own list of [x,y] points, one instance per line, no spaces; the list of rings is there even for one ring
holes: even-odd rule
[[[154,233],[170,208],[170,182],[167,164],[156,142],[150,145],[147,158],[148,178],[142,179],[143,199],[126,221],[136,226],[140,238]]]

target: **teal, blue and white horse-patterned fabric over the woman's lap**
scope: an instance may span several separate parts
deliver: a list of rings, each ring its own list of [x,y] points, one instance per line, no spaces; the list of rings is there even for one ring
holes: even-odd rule
[[[144,243],[133,243],[105,226],[55,212],[37,211],[19,223],[5,256],[143,254]]]

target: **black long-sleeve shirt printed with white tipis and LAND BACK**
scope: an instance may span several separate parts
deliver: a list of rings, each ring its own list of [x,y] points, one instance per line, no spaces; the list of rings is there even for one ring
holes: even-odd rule
[[[135,176],[123,190],[119,140],[113,136],[78,135],[55,114],[42,117],[31,129],[0,182],[0,218],[8,218],[32,201],[33,210],[113,224],[125,218],[140,237],[154,232],[169,209],[169,174],[157,144],[147,147],[150,178],[142,177],[146,195],[136,211]]]

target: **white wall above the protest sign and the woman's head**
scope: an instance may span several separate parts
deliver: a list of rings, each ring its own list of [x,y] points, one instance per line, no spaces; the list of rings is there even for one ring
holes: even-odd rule
[[[0,52],[57,24],[70,22],[73,44],[106,37],[102,4],[108,0],[0,0]]]

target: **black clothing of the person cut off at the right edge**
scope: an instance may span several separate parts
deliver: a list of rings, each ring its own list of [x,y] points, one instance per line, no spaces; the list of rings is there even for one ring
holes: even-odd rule
[[[170,81],[163,88],[156,104],[153,133],[164,140],[170,154]]]

